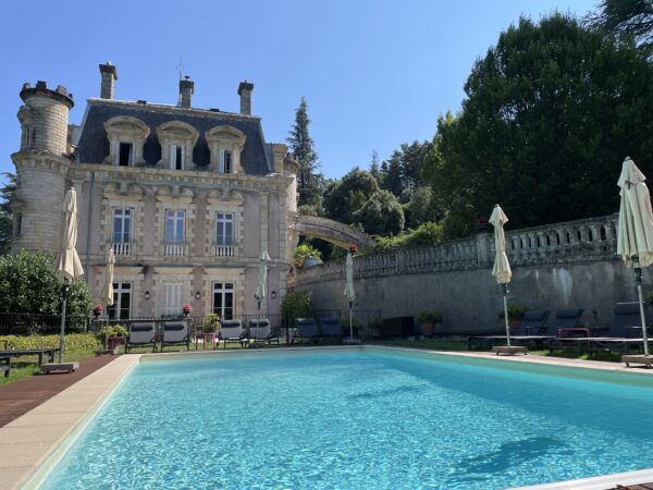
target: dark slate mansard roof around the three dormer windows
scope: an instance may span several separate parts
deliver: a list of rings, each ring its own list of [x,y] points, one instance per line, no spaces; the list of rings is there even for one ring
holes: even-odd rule
[[[109,139],[104,122],[116,115],[131,115],[143,121],[150,134],[143,148],[143,157],[148,166],[155,166],[161,159],[161,146],[157,137],[157,126],[168,121],[182,121],[199,131],[199,138],[193,149],[193,161],[198,167],[209,164],[210,151],[205,134],[218,125],[230,125],[241,130],[247,136],[241,154],[241,167],[247,174],[266,175],[272,172],[273,162],[270,145],[263,140],[260,119],[214,112],[204,109],[186,109],[174,106],[144,105],[106,99],[89,99],[82,134],[77,143],[77,160],[84,163],[103,163],[109,155]]]

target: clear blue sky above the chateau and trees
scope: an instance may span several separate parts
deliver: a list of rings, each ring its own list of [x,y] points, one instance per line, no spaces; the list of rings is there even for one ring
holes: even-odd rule
[[[98,97],[98,64],[118,66],[115,98],[175,103],[180,54],[193,105],[252,112],[268,142],[284,143],[300,97],[329,177],[367,168],[404,142],[431,139],[457,111],[472,63],[520,14],[584,15],[596,0],[32,1],[0,4],[0,171],[14,171],[24,82],[64,85],[79,123]]]

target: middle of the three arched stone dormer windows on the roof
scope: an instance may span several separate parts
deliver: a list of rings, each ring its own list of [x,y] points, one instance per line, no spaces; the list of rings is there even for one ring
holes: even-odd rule
[[[164,169],[189,170],[193,168],[193,148],[199,132],[190,124],[169,121],[157,127],[161,145],[161,164]]]

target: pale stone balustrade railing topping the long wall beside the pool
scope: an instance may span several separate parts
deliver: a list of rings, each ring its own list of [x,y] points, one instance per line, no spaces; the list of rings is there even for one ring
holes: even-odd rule
[[[546,264],[614,260],[617,249],[618,215],[554,223],[521,230],[506,230],[506,254],[513,267]],[[494,262],[494,234],[438,245],[398,248],[357,257],[356,278],[420,274],[491,268]],[[331,260],[298,271],[296,285],[333,280],[345,275],[345,261]]]

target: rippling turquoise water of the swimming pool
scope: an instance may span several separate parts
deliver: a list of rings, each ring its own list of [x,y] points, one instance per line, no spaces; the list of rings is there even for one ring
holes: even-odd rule
[[[147,362],[41,488],[502,489],[653,467],[651,378],[508,364],[381,350]]]

